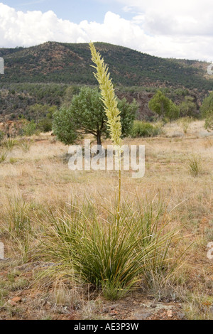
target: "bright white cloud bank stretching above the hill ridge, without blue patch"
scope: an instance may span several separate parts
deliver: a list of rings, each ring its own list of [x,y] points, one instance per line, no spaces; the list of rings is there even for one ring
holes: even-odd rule
[[[103,41],[160,57],[213,60],[209,0],[132,0],[131,6],[129,0],[116,1],[134,13],[131,20],[108,11],[103,23],[76,24],[58,18],[53,11],[23,13],[0,3],[0,47]]]

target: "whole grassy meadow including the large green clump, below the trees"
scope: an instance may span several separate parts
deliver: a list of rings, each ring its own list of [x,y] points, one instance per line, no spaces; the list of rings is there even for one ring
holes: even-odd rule
[[[146,173],[122,171],[119,223],[116,171],[70,171],[50,134],[1,144],[0,318],[119,318],[104,307],[125,298],[126,319],[140,298],[213,318],[212,135],[173,122],[123,144],[146,146]]]

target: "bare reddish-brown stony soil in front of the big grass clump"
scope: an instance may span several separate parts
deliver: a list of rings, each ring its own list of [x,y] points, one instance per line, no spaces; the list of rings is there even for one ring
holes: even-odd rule
[[[1,260],[0,260],[1,261]],[[11,264],[4,260],[1,280],[8,278]],[[1,261],[1,265],[3,262]],[[0,320],[184,320],[185,314],[178,302],[157,302],[145,296],[143,291],[129,293],[118,301],[107,301],[91,291],[88,301],[84,291],[82,299],[73,303],[54,303],[49,298],[53,287],[37,287],[33,284],[33,273],[36,269],[45,269],[45,262],[33,262],[16,266],[14,272],[18,277],[26,279],[30,284],[23,289],[11,289],[0,307]],[[2,267],[1,267],[2,269]]]

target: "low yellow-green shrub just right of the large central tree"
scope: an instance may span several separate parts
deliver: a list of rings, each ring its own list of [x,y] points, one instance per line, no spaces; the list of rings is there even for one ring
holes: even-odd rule
[[[153,137],[160,134],[161,128],[148,122],[135,121],[131,129],[131,137]]]

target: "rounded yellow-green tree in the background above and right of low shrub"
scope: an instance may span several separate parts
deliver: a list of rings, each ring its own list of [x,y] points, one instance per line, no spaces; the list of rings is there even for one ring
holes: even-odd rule
[[[149,109],[158,114],[160,118],[177,119],[180,115],[179,107],[173,103],[163,92],[158,90],[148,103]]]

